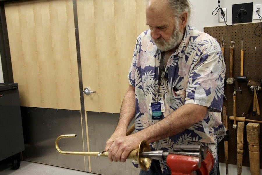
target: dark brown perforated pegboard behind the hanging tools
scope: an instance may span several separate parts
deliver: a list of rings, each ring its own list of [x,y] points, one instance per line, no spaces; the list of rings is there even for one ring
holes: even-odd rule
[[[259,83],[262,78],[262,35],[256,36],[254,33],[255,28],[260,23],[249,23],[249,24],[238,24],[231,27],[228,26],[217,26],[217,27],[204,27],[204,32],[210,34],[217,41],[222,43],[222,37],[224,41],[224,60],[226,63],[226,77],[225,77],[225,86],[224,94],[227,98],[224,99],[223,105],[226,106],[226,115],[233,116],[233,90],[236,89],[242,90],[236,92],[236,116],[242,117],[242,114],[246,111],[247,105],[250,99],[253,99],[254,92],[250,90],[247,86],[249,80]],[[256,33],[259,34],[261,28],[258,27]],[[241,38],[243,35],[243,49],[244,51],[244,76],[247,76],[246,82],[236,81],[237,76],[240,76],[240,50],[241,50]],[[230,44],[233,36],[234,41],[234,57],[233,57],[233,77],[235,81],[233,84],[229,85],[226,83],[226,79],[229,78],[229,56],[230,56]],[[262,91],[259,91],[257,94],[259,101],[259,108],[261,111],[262,106]],[[252,116],[252,108],[250,107],[249,115],[246,119],[259,120],[262,121],[262,115]],[[261,111],[262,112],[262,111]],[[248,122],[245,122],[244,128],[244,153],[242,165],[249,167],[249,151],[248,151],[248,142],[247,142],[247,131],[246,125]],[[260,143],[262,140],[262,125],[260,125]],[[237,164],[237,129],[233,129],[233,120],[228,118],[228,131],[229,131],[229,164]],[[219,142],[219,162],[225,162],[224,156],[224,141]],[[260,144],[260,157],[262,156],[262,144]],[[261,158],[260,158],[261,159]],[[260,161],[260,169],[262,169],[262,160]]]

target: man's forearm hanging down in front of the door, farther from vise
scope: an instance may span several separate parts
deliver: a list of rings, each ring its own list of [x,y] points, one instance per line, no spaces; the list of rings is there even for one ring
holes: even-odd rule
[[[129,85],[121,105],[120,117],[116,126],[116,130],[122,130],[126,132],[129,123],[134,118],[135,107],[135,88]]]

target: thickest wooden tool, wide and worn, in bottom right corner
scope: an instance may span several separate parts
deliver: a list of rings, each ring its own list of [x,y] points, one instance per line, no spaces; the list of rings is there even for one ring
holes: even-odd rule
[[[260,125],[258,123],[247,124],[247,142],[249,150],[250,174],[259,175],[259,137]]]

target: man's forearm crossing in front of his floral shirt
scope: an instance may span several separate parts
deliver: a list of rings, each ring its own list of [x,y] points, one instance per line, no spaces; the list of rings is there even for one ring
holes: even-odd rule
[[[135,134],[140,140],[154,142],[174,136],[195,123],[203,120],[207,107],[197,104],[185,104],[168,115],[163,120]]]

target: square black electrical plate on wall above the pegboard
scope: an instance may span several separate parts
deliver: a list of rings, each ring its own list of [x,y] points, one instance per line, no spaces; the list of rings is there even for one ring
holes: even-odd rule
[[[233,4],[232,24],[252,22],[252,16],[253,16],[253,2],[243,3],[243,4]]]

